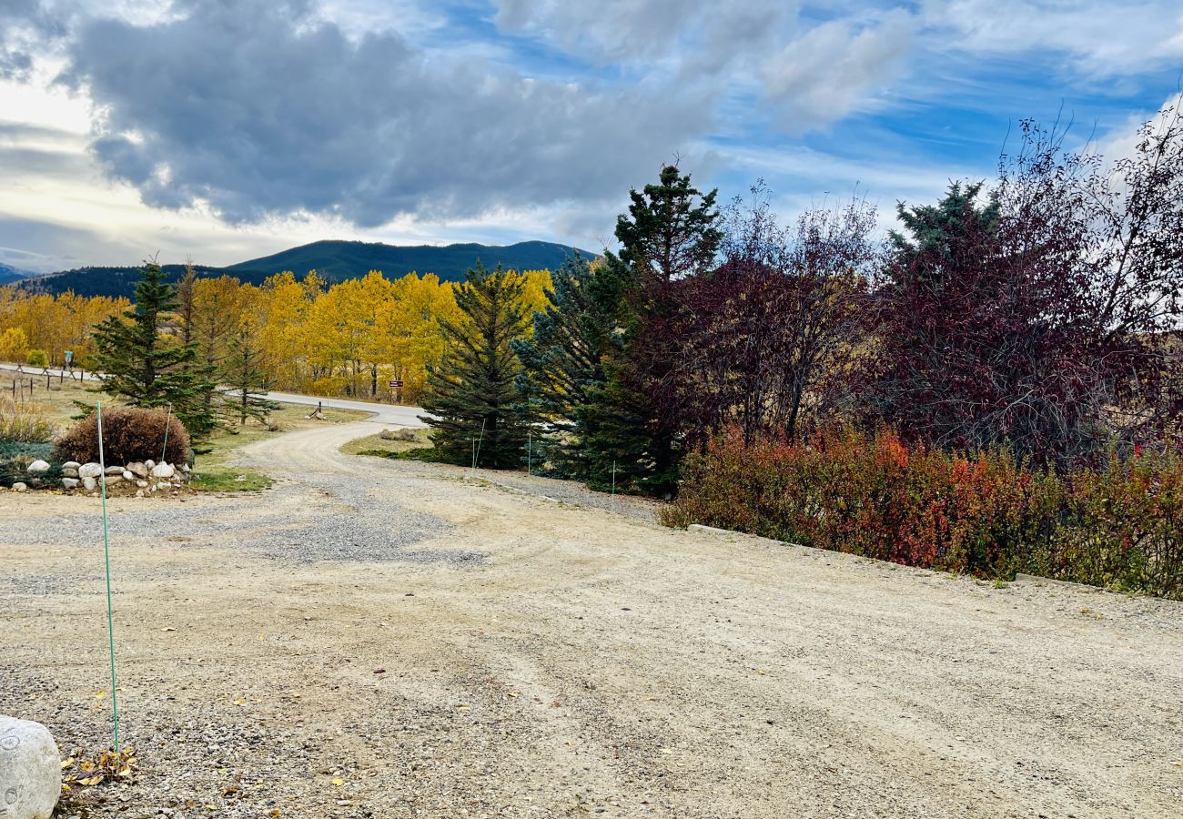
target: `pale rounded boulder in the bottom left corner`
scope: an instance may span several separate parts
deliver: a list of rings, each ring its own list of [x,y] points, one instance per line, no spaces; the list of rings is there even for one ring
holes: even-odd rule
[[[62,760],[49,729],[0,716],[0,817],[50,819],[62,795]]]

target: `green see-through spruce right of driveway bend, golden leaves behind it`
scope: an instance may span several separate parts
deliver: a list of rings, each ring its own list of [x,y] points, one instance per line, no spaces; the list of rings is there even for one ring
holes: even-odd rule
[[[526,424],[521,415],[517,378],[522,372],[511,342],[525,335],[522,282],[510,271],[486,270],[479,262],[457,289],[459,322],[440,321],[447,343],[439,365],[427,370],[422,399],[439,457],[468,465],[474,441],[477,464],[493,469],[521,465]]]

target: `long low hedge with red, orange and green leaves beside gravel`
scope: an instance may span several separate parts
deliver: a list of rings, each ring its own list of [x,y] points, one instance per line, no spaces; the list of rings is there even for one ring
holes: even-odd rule
[[[704,523],[907,566],[1047,578],[1183,599],[1183,459],[1111,456],[1032,470],[1003,452],[909,449],[887,431],[744,446],[687,459],[668,525]]]

